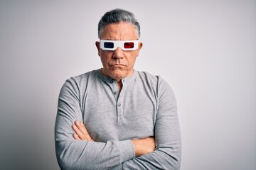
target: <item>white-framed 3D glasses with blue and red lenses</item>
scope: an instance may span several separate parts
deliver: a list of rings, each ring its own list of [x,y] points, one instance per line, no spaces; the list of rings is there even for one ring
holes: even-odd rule
[[[100,48],[102,50],[114,51],[120,47],[124,51],[137,50],[139,40],[100,40]]]

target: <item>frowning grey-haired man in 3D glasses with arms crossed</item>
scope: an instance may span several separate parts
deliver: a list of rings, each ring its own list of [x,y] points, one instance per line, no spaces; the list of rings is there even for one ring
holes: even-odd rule
[[[95,42],[102,69],[60,91],[55,148],[61,169],[179,169],[181,134],[171,87],[134,70],[142,42],[129,11],[102,16]]]

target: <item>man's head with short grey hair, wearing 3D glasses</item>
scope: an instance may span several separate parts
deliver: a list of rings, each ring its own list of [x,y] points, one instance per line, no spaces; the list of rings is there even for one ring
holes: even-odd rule
[[[122,9],[105,13],[98,25],[98,36],[101,42],[96,42],[96,46],[102,61],[103,74],[117,81],[131,76],[139,50],[142,48],[142,42],[137,43],[140,26],[134,14]],[[108,46],[102,46],[105,42],[113,45],[113,48],[107,50]],[[129,46],[130,43],[132,46]]]

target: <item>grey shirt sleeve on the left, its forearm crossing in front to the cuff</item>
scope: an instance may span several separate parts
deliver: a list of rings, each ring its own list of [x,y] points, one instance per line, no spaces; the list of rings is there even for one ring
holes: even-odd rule
[[[73,139],[75,120],[82,120],[80,94],[75,80],[69,79],[60,90],[55,120],[55,152],[61,169],[111,169],[135,157],[131,140]]]

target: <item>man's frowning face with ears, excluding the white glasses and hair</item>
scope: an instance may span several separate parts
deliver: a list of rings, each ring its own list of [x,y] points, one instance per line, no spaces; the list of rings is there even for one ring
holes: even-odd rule
[[[105,26],[100,37],[101,40],[138,40],[139,37],[132,23],[112,23]],[[123,51],[117,47],[114,51],[100,49],[100,43],[96,42],[98,54],[102,61],[102,72],[105,76],[112,77],[119,81],[124,77],[130,77],[133,74],[133,67],[139,50],[142,48],[142,42],[134,51]]]

